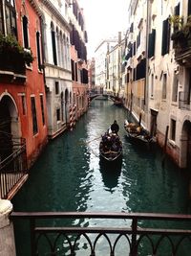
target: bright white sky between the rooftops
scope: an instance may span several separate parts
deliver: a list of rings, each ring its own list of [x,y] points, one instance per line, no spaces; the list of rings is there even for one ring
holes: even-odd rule
[[[96,47],[103,39],[125,32],[128,26],[129,0],[78,0],[84,10],[88,33],[88,58],[95,55]]]

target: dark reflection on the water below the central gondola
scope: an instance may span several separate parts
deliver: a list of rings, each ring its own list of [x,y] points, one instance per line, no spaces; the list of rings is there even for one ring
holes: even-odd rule
[[[113,193],[114,188],[117,187],[118,178],[121,174],[122,158],[118,159],[117,162],[106,162],[103,159],[100,159],[99,166],[104,186]]]

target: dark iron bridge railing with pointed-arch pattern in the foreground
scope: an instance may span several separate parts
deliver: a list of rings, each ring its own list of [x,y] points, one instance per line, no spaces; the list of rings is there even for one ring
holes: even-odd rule
[[[14,223],[18,219],[27,219],[31,223],[32,256],[74,256],[78,255],[76,252],[79,252],[79,249],[84,248],[86,253],[84,252],[80,255],[96,256],[96,250],[99,250],[98,255],[115,256],[117,255],[116,250],[119,244],[122,244],[119,248],[125,249],[125,252],[121,251],[119,253],[121,256],[176,256],[178,251],[180,253],[181,245],[185,245],[185,240],[187,245],[191,244],[191,229],[187,227],[191,222],[191,215],[87,212],[11,213],[11,220]],[[42,220],[46,220],[46,222]],[[66,224],[67,220],[71,220],[69,221],[70,224]],[[101,223],[104,226],[100,225],[100,222],[97,224],[97,220],[102,221]],[[63,224],[64,221],[65,224]],[[111,224],[112,221],[115,222]],[[72,222],[73,224],[71,224]],[[90,224],[91,222],[94,224]],[[185,224],[185,229],[180,228],[182,223]],[[179,226],[178,228],[177,225]],[[42,244],[44,251],[41,247]],[[67,244],[67,252],[64,252],[63,244]],[[79,244],[81,244],[81,247]],[[107,253],[103,252],[102,248],[99,247],[101,244],[103,247],[108,247]],[[144,249],[148,248],[148,245],[149,251],[145,252]],[[159,250],[162,249],[163,253],[160,252],[159,254]],[[179,255],[185,254],[181,253]]]

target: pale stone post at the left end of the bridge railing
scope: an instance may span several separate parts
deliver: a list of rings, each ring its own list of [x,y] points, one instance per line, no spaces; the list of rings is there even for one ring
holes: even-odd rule
[[[0,198],[0,255],[16,256],[13,224],[10,221],[12,204]]]

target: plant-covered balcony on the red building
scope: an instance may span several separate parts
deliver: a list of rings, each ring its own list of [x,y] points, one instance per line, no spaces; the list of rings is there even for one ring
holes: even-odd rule
[[[11,35],[0,35],[0,81],[24,83],[26,64],[32,63],[31,50],[25,50]]]

